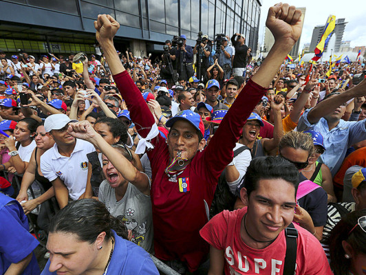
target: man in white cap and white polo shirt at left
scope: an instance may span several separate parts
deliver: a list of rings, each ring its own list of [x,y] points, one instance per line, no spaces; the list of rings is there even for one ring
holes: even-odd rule
[[[60,208],[67,206],[69,199],[79,199],[87,186],[87,154],[94,146],[78,140],[67,133],[70,120],[63,113],[45,119],[45,131],[54,138],[55,144],[41,156],[41,172],[52,182]]]

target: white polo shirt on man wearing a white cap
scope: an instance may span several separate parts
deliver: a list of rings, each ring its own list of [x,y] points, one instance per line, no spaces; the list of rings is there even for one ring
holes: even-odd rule
[[[74,151],[70,157],[65,157],[58,153],[55,143],[41,156],[41,172],[49,181],[59,177],[69,190],[69,197],[76,200],[87,186],[87,154],[95,150],[90,142],[76,139]]]

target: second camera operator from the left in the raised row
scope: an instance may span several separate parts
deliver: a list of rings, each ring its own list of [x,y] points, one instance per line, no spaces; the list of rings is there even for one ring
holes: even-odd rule
[[[186,36],[184,34],[180,36],[179,40],[182,40],[182,45],[180,45],[180,43],[177,45],[177,69],[180,74],[180,78],[189,80],[189,78],[194,74],[193,49],[191,46],[186,45]]]

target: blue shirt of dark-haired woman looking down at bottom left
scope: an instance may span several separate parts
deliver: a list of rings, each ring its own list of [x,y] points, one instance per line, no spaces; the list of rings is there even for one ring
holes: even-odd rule
[[[109,263],[106,275],[119,275],[119,274],[151,274],[159,275],[153,260],[151,259],[149,253],[147,253],[143,248],[122,239],[120,236],[114,234],[114,251],[111,257],[111,262]],[[41,275],[55,274],[56,272],[50,272],[50,260],[47,261],[45,269]]]

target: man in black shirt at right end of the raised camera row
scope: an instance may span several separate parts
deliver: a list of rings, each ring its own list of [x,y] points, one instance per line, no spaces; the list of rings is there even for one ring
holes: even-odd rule
[[[236,40],[235,40],[236,38]],[[248,54],[248,46],[244,44],[245,42],[244,34],[234,34],[231,37],[231,42],[235,47],[235,56],[233,60],[233,75],[243,76],[246,69],[246,57]]]

